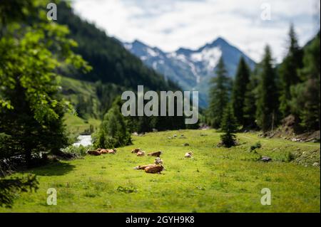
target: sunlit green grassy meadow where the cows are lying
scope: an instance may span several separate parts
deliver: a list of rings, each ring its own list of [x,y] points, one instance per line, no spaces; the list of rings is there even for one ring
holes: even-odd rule
[[[320,144],[238,134],[240,146],[225,149],[216,147],[219,135],[214,130],[150,133],[133,137],[133,145],[116,155],[26,171],[39,176],[40,189],[17,194],[14,207],[0,212],[320,212],[320,167],[312,167],[320,163]],[[259,141],[258,154],[249,152]],[[153,162],[131,154],[135,147],[162,150],[163,174],[133,170]],[[184,159],[190,150],[195,157]],[[259,162],[260,155],[273,162]],[[46,204],[49,188],[57,190],[56,206]],[[263,188],[272,193],[270,206],[260,204]]]

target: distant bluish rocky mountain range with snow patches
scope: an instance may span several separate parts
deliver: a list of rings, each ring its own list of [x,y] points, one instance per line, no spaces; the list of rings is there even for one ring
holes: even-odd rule
[[[236,73],[241,56],[245,58],[251,69],[255,67],[252,59],[223,38],[217,38],[213,43],[208,43],[198,50],[180,48],[172,53],[147,46],[141,41],[123,43],[123,46],[141,58],[150,68],[165,75],[165,78],[173,80],[183,90],[198,90],[200,106],[203,107],[207,105],[208,85],[210,78],[215,76],[215,68],[221,56],[231,78]]]

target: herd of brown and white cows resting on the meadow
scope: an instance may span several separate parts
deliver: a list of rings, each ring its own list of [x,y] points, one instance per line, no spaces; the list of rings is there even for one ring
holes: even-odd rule
[[[99,156],[101,154],[116,154],[116,149],[96,149],[94,151],[88,151],[87,154],[93,156]],[[145,156],[146,152],[141,150],[140,148],[132,149],[132,154],[136,154],[137,157]],[[134,167],[136,170],[144,170],[148,174],[161,174],[161,171],[165,169],[163,166],[163,159],[161,159],[162,152],[151,152],[148,153],[148,156],[156,157],[153,164],[146,164],[143,166]],[[185,158],[193,158],[193,152],[187,152],[185,154]]]

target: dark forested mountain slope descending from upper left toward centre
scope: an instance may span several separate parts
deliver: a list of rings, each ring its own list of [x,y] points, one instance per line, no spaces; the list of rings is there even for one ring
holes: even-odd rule
[[[116,38],[107,36],[92,23],[83,21],[66,3],[59,4],[58,12],[58,23],[68,26],[71,38],[78,43],[74,51],[93,67],[88,74],[75,73],[74,78],[91,82],[101,80],[102,83],[114,83],[134,90],[137,90],[137,85],[152,90],[178,89],[178,86],[166,81],[163,75],[143,65]]]

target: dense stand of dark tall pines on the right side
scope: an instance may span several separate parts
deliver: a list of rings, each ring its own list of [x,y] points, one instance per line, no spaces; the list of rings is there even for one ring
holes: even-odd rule
[[[295,133],[320,130],[320,32],[300,47],[290,26],[287,55],[275,64],[270,47],[253,72],[240,59],[231,81],[223,60],[213,78],[206,120],[220,128],[225,108],[233,108],[238,130],[269,132],[294,119]]]

